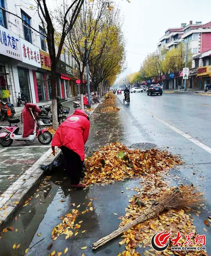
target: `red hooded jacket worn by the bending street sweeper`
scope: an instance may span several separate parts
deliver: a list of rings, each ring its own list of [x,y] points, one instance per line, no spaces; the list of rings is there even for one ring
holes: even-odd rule
[[[76,109],[73,115],[63,122],[52,140],[52,149],[54,146],[66,146],[80,156],[81,161],[84,160],[84,145],[88,140],[90,122],[83,110]]]

